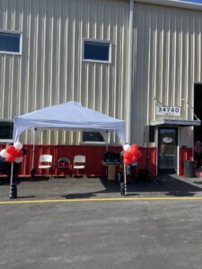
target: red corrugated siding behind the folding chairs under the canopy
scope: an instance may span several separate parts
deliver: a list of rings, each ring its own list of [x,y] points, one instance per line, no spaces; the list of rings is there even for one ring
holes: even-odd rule
[[[3,144],[0,144],[0,149],[4,148]],[[22,164],[19,168],[20,175],[31,175],[33,146],[31,144],[25,145],[27,154],[24,156]],[[121,152],[121,146],[109,147],[110,152]],[[106,146],[77,146],[77,145],[36,145],[34,153],[33,168],[35,175],[40,173],[47,174],[47,170],[39,170],[39,158],[40,154],[51,154],[53,156],[53,165],[51,169],[51,175],[57,175],[57,161],[61,157],[67,157],[71,162],[70,175],[72,175],[72,165],[75,155],[84,155],[86,157],[86,175],[87,176],[103,176],[104,168],[102,165],[104,152],[106,152]]]

